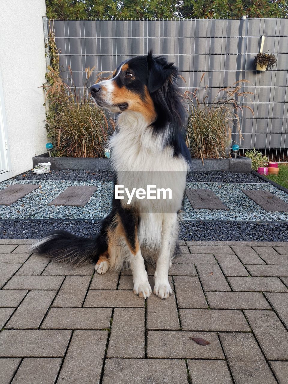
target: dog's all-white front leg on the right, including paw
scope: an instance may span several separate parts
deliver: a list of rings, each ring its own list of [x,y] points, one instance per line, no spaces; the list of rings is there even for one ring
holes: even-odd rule
[[[154,274],[154,294],[161,299],[167,299],[172,294],[168,281],[171,248],[174,247],[174,231],[177,228],[177,214],[165,214],[162,225],[162,248],[159,254]]]

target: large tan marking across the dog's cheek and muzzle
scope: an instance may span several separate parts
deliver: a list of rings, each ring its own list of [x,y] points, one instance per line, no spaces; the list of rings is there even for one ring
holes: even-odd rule
[[[115,83],[111,94],[111,101],[113,104],[127,103],[128,111],[140,112],[149,124],[156,119],[154,104],[146,86],[145,98],[142,100],[139,94],[130,91],[124,86],[119,88]]]

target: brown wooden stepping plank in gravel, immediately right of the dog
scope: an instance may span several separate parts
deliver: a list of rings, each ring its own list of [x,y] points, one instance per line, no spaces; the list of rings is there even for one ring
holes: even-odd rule
[[[186,189],[186,195],[194,209],[229,210],[210,189]]]

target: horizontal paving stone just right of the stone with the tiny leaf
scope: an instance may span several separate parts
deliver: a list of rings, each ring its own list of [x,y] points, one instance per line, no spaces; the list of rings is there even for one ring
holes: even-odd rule
[[[287,292],[278,277],[228,277],[233,291]]]

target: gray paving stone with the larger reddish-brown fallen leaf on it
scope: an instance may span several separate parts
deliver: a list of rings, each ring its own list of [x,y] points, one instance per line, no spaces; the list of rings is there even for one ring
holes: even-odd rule
[[[210,344],[196,344],[190,337],[202,338]],[[186,331],[148,331],[148,358],[223,359],[217,333]]]

